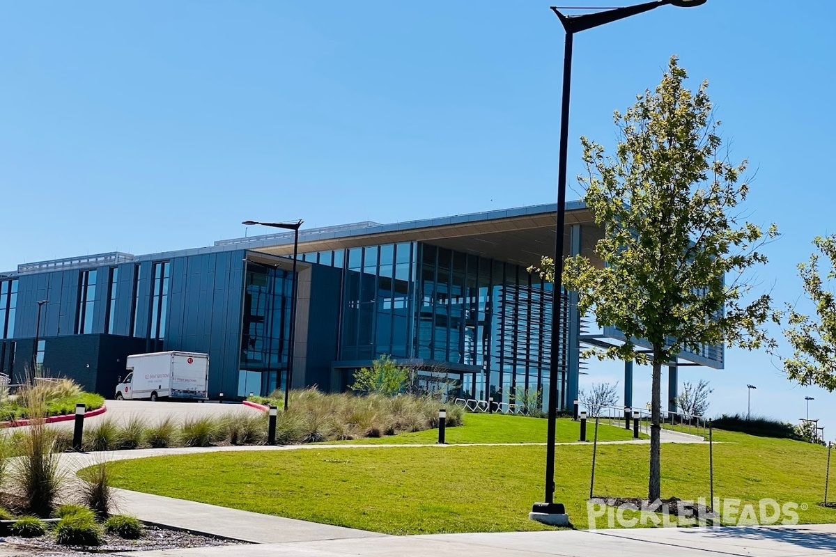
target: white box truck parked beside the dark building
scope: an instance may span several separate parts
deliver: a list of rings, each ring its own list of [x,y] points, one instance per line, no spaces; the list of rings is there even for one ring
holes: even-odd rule
[[[209,355],[200,352],[153,352],[127,357],[128,375],[116,386],[117,400],[207,398]]]

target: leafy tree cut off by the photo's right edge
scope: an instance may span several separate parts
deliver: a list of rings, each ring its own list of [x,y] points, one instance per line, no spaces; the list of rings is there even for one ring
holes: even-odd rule
[[[836,278],[836,235],[817,236],[813,246],[830,260],[825,280]],[[798,265],[804,292],[816,306],[816,319],[789,306],[788,328],[784,330],[793,357],[783,358],[784,371],[802,385],[818,385],[836,390],[836,296],[825,287],[818,271],[818,254]]]

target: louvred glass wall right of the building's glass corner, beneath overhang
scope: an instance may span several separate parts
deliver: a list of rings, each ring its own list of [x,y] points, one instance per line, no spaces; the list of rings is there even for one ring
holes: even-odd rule
[[[552,284],[517,265],[426,244],[419,276],[417,357],[477,369],[462,374],[462,397],[547,405]],[[558,342],[562,393],[565,338]]]

